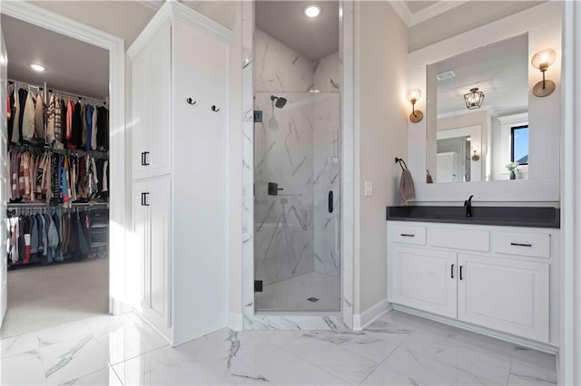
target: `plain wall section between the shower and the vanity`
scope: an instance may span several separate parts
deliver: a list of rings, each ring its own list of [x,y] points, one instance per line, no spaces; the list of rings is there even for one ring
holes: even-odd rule
[[[388,2],[355,2],[355,313],[387,295],[386,206],[407,159],[408,27]],[[364,197],[364,181],[373,196]]]

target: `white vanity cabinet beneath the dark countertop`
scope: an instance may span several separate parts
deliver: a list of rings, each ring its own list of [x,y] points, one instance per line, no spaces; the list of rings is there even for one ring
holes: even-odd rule
[[[401,236],[409,227],[425,242]],[[553,228],[388,221],[388,300],[558,346],[558,236]]]

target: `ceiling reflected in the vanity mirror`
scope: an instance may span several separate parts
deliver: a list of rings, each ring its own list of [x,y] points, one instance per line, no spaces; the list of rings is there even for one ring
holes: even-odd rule
[[[527,57],[528,37],[523,34],[436,63],[436,73],[453,71],[456,74],[436,81],[438,117],[468,112],[463,95],[474,87],[485,95],[481,109],[494,115],[527,111]]]

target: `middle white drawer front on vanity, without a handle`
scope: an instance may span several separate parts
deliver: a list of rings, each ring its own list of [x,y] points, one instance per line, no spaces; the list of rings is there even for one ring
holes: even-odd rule
[[[479,229],[429,228],[428,246],[488,252],[490,235]]]

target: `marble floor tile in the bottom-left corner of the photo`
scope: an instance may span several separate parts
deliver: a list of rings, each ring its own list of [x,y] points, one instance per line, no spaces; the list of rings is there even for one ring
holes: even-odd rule
[[[44,385],[44,367],[37,350],[2,358],[0,384]]]

